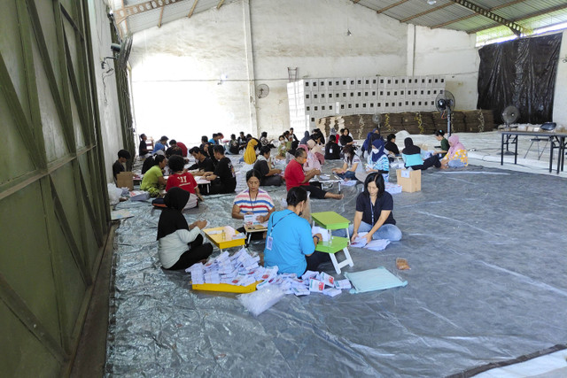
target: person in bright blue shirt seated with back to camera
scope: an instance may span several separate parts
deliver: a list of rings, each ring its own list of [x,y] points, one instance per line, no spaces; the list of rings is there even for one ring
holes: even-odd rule
[[[268,220],[268,235],[264,249],[264,266],[278,266],[278,273],[317,270],[319,264],[330,261],[328,253],[315,251],[321,234],[311,235],[311,226],[300,217],[306,207],[307,191],[291,188],[287,193],[287,209],[274,212]]]

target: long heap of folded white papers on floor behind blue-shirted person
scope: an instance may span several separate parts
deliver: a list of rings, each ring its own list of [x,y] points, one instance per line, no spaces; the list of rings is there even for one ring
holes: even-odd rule
[[[301,277],[296,274],[277,274],[277,266],[259,266],[260,257],[251,256],[244,248],[232,256],[224,251],[206,264],[198,263],[185,269],[191,274],[193,284],[228,283],[229,285],[248,286],[260,282],[256,289],[265,289],[271,285],[279,286],[285,294],[307,296],[322,293],[335,297],[343,289],[351,289],[351,282],[335,280],[324,272],[308,270]]]

